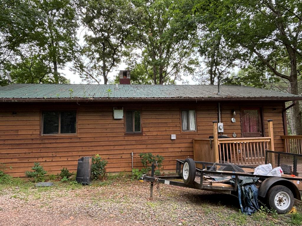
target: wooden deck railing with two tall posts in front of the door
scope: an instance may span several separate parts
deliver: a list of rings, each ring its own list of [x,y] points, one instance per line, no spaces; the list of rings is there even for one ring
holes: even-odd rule
[[[274,150],[272,120],[268,120],[268,137],[220,138],[213,121],[214,139],[193,139],[195,161],[226,161],[238,165],[265,163],[265,150]],[[302,136],[300,138],[302,140]],[[300,145],[302,148],[302,145]]]

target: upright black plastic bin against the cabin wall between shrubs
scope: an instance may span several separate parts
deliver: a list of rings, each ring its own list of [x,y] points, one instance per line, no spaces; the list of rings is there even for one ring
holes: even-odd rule
[[[76,182],[80,184],[90,184],[91,182],[92,157],[82,157],[78,160],[76,171]]]

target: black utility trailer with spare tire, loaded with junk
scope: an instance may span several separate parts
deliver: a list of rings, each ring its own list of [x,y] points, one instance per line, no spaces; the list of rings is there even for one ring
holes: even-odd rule
[[[201,166],[201,168],[197,168]],[[215,163],[219,166],[226,166],[228,164]],[[239,178],[252,177],[259,178],[255,182],[258,187],[258,196],[265,200],[271,209],[275,209],[277,213],[284,214],[292,209],[294,206],[294,198],[301,200],[301,194],[298,187],[294,184],[299,181],[302,183],[302,177],[272,177],[253,175],[252,173],[229,172],[229,171],[209,171],[205,170],[207,167],[213,166],[212,162],[200,162],[193,159],[176,160],[176,173],[178,176],[154,176],[154,163],[152,164],[151,176],[144,174],[142,180],[151,182],[150,198],[153,196],[153,186],[155,183],[169,184],[180,187],[188,187],[200,190],[213,191],[218,193],[230,194],[238,198]],[[253,169],[255,167],[236,165],[239,168]],[[204,176],[211,174],[220,175],[221,177],[233,177],[235,184],[226,183],[205,183]],[[180,181],[179,179],[182,179]]]

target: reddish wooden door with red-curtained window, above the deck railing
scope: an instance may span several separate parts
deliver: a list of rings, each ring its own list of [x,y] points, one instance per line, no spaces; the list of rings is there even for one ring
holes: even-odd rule
[[[260,108],[241,110],[241,131],[243,137],[262,137]]]

